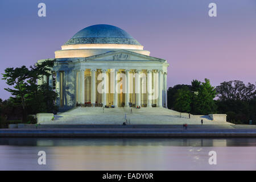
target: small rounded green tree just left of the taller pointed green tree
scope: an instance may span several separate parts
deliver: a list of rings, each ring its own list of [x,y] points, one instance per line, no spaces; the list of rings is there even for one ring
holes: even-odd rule
[[[174,109],[180,112],[191,111],[191,92],[188,86],[183,86],[175,94]]]

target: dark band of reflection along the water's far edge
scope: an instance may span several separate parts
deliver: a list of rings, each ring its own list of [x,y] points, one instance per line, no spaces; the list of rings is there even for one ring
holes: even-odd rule
[[[255,138],[0,138],[9,146],[256,146]]]

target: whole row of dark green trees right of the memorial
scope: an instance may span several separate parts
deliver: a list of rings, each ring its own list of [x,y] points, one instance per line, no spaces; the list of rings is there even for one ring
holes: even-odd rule
[[[256,86],[234,80],[214,88],[208,79],[193,80],[191,85],[175,85],[168,89],[168,109],[191,114],[227,114],[237,124],[256,122]]]

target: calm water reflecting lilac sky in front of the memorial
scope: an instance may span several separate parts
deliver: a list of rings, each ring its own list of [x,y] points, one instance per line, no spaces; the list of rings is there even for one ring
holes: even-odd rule
[[[0,170],[256,170],[256,138],[1,138]]]

